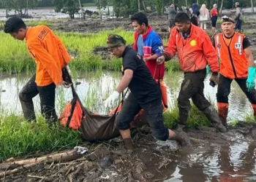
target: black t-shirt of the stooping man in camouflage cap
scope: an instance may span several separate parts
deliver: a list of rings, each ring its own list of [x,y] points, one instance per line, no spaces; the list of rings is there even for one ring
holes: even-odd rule
[[[151,76],[148,67],[138,52],[126,47],[122,55],[123,58],[123,74],[126,69],[133,71],[132,80],[129,83],[129,90],[138,103],[149,103],[153,100],[162,98],[161,91],[157,82]]]

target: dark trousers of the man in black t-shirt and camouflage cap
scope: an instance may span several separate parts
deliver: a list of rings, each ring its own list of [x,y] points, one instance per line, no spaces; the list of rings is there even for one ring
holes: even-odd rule
[[[119,130],[128,130],[130,122],[136,114],[143,108],[146,113],[148,124],[151,127],[155,138],[166,141],[169,137],[169,130],[165,127],[162,117],[162,97],[145,104],[138,103],[138,100],[130,93],[116,117]]]

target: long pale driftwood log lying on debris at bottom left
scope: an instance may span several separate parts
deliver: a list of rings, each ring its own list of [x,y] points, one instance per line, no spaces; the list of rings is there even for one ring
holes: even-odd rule
[[[3,163],[0,165],[0,170],[15,171],[15,170],[18,170],[19,167],[26,167],[26,166],[29,167],[29,165],[33,166],[43,161],[55,162],[55,161],[58,161],[59,159],[70,158],[70,157],[74,159],[74,157],[78,158],[79,155],[77,154],[76,150],[66,151],[59,154],[49,154],[49,155],[34,158],[34,159],[26,159],[26,160],[20,160],[15,162]],[[15,169],[15,170],[12,170],[12,169]],[[10,171],[6,171],[5,174],[7,175],[7,172],[10,172]],[[3,176],[1,174],[4,174],[4,172],[0,173],[0,177]]]

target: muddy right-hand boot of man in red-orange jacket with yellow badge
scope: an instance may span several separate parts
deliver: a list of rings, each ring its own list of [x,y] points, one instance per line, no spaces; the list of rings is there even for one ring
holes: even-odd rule
[[[219,132],[226,132],[227,128],[222,124],[217,111],[213,106],[208,106],[203,110],[203,113],[206,115],[207,119],[211,122],[212,126],[215,127]]]

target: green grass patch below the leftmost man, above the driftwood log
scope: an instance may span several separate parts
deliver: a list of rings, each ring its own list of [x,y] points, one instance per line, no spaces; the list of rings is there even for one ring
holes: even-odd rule
[[[0,162],[36,151],[68,149],[81,143],[78,131],[59,126],[49,128],[42,117],[37,117],[37,123],[28,123],[15,114],[3,113],[0,118]]]

